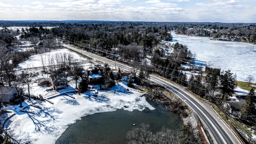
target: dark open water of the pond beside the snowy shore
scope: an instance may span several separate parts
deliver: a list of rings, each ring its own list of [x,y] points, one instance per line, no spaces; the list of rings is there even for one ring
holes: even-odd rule
[[[149,102],[155,110],[145,109],[132,112],[118,109],[114,112],[104,112],[88,115],[71,124],[58,138],[56,144],[126,144],[126,133],[133,124],[150,124],[153,133],[165,126],[171,129],[183,128],[180,117],[167,112],[162,104]],[[178,124],[176,124],[178,122]]]

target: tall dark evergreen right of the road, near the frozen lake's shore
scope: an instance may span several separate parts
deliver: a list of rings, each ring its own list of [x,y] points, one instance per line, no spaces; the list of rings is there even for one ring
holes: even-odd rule
[[[223,94],[222,100],[224,98],[227,99],[228,96],[231,96],[235,92],[234,89],[236,88],[237,83],[232,74],[233,73],[231,73],[230,70],[225,72],[222,71],[220,74],[220,89]]]

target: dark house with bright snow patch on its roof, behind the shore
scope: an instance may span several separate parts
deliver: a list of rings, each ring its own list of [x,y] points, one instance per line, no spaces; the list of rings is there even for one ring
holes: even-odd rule
[[[103,79],[103,70],[102,69],[92,69],[92,70],[87,70],[87,77],[88,77],[88,82],[98,82]]]

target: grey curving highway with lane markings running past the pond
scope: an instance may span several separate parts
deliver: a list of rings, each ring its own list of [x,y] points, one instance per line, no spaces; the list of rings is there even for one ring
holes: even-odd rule
[[[106,62],[110,65],[116,65],[117,67],[125,70],[132,70],[130,66],[126,66],[125,64],[121,64],[113,60],[97,56],[90,52],[86,52],[84,50],[80,50],[66,44],[62,44],[62,46],[74,50],[78,53],[84,54],[94,60]],[[206,126],[215,144],[242,144],[242,142],[237,138],[234,132],[216,114],[216,112],[214,112],[212,108],[208,108],[207,106],[205,106],[192,94],[186,92],[185,87],[172,84],[153,75],[150,76],[150,80],[162,86],[165,86],[166,88],[168,88],[168,90],[170,90],[171,92],[179,96],[184,102],[186,102],[186,104],[188,104],[188,106],[198,115],[200,120]]]

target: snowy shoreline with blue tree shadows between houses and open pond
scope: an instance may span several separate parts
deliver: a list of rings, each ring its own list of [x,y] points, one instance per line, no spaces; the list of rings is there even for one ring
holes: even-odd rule
[[[74,83],[71,87],[74,87]],[[8,109],[16,113],[10,118],[10,124],[7,122],[8,131],[12,137],[20,140],[21,143],[31,141],[32,144],[54,144],[61,134],[81,117],[99,112],[111,112],[117,109],[128,111],[144,110],[149,108],[154,110],[145,97],[140,97],[142,93],[136,91],[125,92],[127,86],[124,83],[117,83],[110,91],[99,91],[98,94],[85,92],[83,94],[69,93],[75,99],[60,95],[42,103],[34,100],[22,103],[23,108],[31,103],[41,106],[42,109],[28,106],[24,110],[34,112],[34,114],[20,112],[19,105],[8,106]],[[32,92],[33,93],[33,92]],[[9,115],[12,113],[8,113]],[[6,114],[1,117],[6,119]]]

